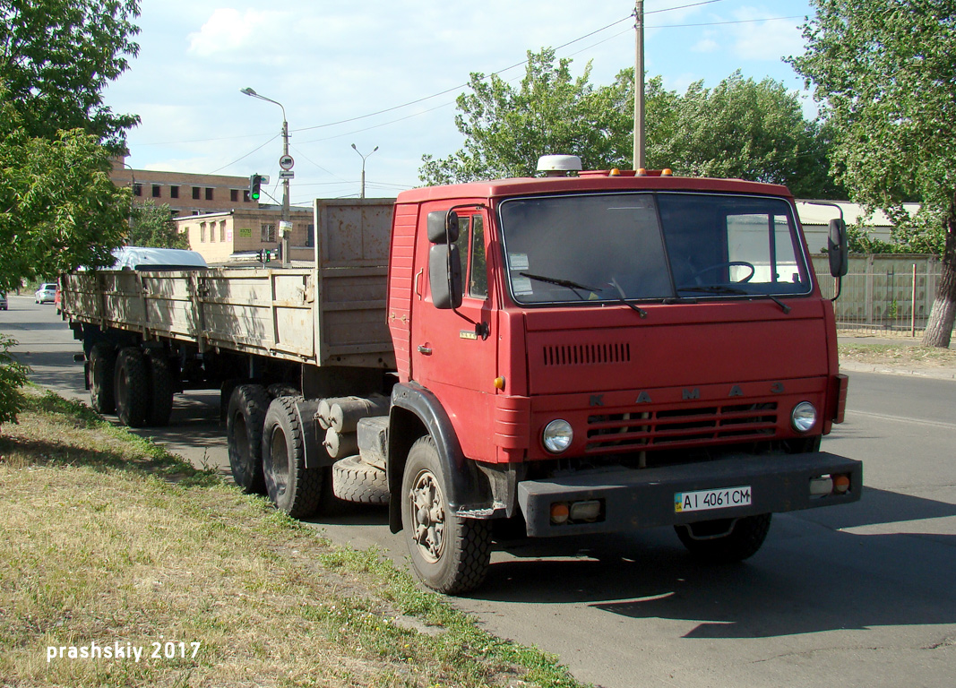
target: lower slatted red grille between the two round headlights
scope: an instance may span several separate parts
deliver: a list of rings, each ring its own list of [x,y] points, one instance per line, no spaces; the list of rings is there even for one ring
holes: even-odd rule
[[[776,402],[589,416],[585,451],[600,454],[762,440],[775,434],[776,423]]]

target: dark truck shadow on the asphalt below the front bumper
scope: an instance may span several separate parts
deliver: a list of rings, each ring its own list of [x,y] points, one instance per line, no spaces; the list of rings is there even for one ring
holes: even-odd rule
[[[956,505],[867,489],[857,505],[776,517],[764,548],[747,562],[727,566],[696,562],[666,529],[506,543],[502,550],[511,556],[491,566],[474,596],[584,603],[632,618],[696,621],[685,634],[694,638],[951,625],[951,523],[923,523],[912,532],[889,524],[954,516]]]

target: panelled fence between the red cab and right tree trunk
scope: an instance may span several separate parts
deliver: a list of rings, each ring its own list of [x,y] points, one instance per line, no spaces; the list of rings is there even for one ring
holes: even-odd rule
[[[815,255],[823,295],[832,298],[835,280],[827,256]],[[836,329],[847,333],[923,336],[942,266],[932,255],[876,254],[850,257],[834,303]]]

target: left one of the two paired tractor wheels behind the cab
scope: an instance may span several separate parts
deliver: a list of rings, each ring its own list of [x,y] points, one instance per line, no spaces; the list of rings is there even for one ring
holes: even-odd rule
[[[247,494],[265,494],[262,475],[262,431],[269,409],[269,394],[256,384],[239,385],[229,395],[226,413],[229,467],[232,480]]]

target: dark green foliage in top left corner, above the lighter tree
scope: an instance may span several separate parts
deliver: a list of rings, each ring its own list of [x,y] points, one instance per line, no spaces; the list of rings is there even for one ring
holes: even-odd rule
[[[33,137],[82,129],[114,154],[133,115],[115,115],[102,90],[139,53],[137,0],[0,0],[0,83]]]

